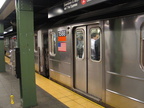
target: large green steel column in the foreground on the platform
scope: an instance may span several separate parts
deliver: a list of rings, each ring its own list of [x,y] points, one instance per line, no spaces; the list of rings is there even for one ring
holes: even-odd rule
[[[23,108],[37,105],[34,71],[34,24],[32,0],[16,1],[17,37],[20,49],[20,91]]]

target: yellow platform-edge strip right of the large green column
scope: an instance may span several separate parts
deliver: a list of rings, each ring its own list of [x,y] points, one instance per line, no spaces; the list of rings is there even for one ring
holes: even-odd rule
[[[36,75],[36,84],[43,90],[57,98],[69,108],[104,108],[85,97],[82,97],[75,92],[39,75]]]

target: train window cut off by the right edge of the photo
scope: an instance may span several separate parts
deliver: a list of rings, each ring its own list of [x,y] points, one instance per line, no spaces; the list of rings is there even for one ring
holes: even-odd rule
[[[141,65],[144,68],[144,26],[141,30]]]

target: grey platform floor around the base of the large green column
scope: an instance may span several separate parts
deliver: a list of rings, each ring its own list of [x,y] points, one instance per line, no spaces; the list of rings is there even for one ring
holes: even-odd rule
[[[31,108],[68,108],[40,87],[37,86],[36,90],[38,106]],[[11,93],[14,95],[15,104],[13,105],[10,104]],[[0,73],[0,108],[22,108],[19,79],[11,74],[8,65],[7,72]]]

